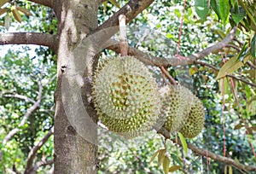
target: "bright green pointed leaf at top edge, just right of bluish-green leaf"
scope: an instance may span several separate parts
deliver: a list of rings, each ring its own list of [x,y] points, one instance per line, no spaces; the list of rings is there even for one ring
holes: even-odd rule
[[[227,23],[227,19],[229,19],[230,15],[230,2],[227,0],[217,0],[220,18],[224,23],[224,26]]]

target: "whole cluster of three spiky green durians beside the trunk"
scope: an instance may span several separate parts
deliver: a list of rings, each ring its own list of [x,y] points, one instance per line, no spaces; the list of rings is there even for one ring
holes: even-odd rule
[[[203,106],[192,92],[181,85],[159,90],[152,73],[132,56],[103,61],[96,68],[92,90],[102,124],[126,137],[154,125],[195,137],[204,125]]]

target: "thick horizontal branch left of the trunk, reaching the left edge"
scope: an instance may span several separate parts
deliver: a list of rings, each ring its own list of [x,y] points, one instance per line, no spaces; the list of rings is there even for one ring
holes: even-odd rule
[[[0,33],[0,45],[3,44],[37,44],[56,49],[55,35],[38,32],[9,32]]]

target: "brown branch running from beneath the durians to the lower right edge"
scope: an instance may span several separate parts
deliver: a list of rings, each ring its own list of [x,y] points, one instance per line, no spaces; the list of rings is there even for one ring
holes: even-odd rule
[[[160,133],[162,136],[165,136],[167,139],[171,139],[170,133],[168,131],[166,131],[164,128],[161,128],[157,132]],[[182,146],[182,142],[179,139],[177,140],[177,142],[176,142],[176,139],[171,139],[171,140],[172,140],[172,142],[175,142]],[[232,165],[241,171],[256,171],[256,166],[242,165],[241,163],[236,162],[236,160],[234,160],[234,159],[230,159],[230,158],[218,155],[218,154],[214,154],[214,153],[209,152],[202,148],[197,148],[189,142],[187,142],[187,144],[188,144],[188,148],[191,149],[193,152],[200,154],[202,156],[206,156],[207,158],[211,158],[214,160],[218,160],[219,162],[223,162],[228,165]]]

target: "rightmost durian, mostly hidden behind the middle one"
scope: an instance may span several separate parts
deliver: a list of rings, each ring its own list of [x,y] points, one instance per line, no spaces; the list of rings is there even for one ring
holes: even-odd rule
[[[199,98],[194,96],[194,102],[189,112],[189,118],[186,120],[180,132],[184,137],[193,138],[201,133],[205,124],[204,107]]]

